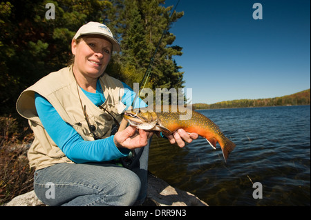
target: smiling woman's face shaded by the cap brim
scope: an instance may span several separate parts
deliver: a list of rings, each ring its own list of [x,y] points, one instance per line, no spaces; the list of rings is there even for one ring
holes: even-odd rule
[[[75,55],[75,72],[97,79],[111,59],[112,44],[100,35],[88,35],[78,41],[73,40],[71,50]]]

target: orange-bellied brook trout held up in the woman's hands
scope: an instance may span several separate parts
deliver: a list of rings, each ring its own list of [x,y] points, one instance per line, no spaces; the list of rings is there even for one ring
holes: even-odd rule
[[[186,112],[179,112],[176,107],[168,106],[168,111],[162,106],[160,112],[150,110],[152,108],[139,108],[128,110],[124,113],[124,119],[129,122],[131,126],[134,126],[143,130],[153,130],[162,132],[164,134],[172,134],[179,128],[182,128],[189,133],[197,133],[201,137],[207,139],[212,148],[216,149],[216,143],[220,144],[220,148],[223,151],[223,157],[227,161],[228,155],[236,145],[230,141],[219,127],[211,121],[211,119],[205,117],[190,108],[187,111],[192,111],[191,119],[181,120],[180,116],[185,115]],[[164,111],[165,110],[165,111]]]

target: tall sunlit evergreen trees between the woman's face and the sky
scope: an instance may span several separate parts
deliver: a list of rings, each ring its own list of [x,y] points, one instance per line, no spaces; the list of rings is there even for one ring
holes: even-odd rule
[[[165,28],[182,17],[183,12],[175,12],[171,21],[169,16],[173,6],[165,8],[164,0],[124,0],[120,11],[122,23],[122,75],[124,81],[132,86],[140,83],[150,59],[158,46]],[[183,88],[183,72],[173,56],[182,55],[180,46],[172,46],[176,37],[167,30],[154,57],[151,77],[147,88]]]

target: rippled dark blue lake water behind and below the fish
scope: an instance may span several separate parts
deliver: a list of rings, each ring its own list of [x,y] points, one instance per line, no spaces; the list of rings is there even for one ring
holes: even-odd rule
[[[197,111],[236,143],[227,163],[201,137],[178,148],[154,136],[153,174],[209,206],[310,206],[310,106]]]

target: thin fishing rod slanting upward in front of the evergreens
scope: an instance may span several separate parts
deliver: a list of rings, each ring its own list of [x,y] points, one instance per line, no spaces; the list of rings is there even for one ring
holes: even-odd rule
[[[178,6],[178,3],[179,3],[180,0],[178,0],[178,2],[176,3],[176,6],[174,6],[173,10],[171,11],[171,14],[169,16],[169,21],[167,22],[167,26],[164,28],[163,32],[162,32],[162,36],[160,38],[160,40],[158,41],[158,45],[156,47],[156,50],[153,52],[153,56],[151,57],[150,59],[150,62],[149,62],[149,66],[146,70],[146,72],[144,73],[144,77],[142,77],[142,81],[140,82],[140,88],[138,89],[138,93],[135,94],[135,98],[133,99],[133,103],[132,103],[132,106],[134,107],[134,103],[136,101],[136,99],[138,97],[140,97],[140,92],[144,89],[144,87],[146,86],[146,83],[149,79],[149,76],[150,76],[150,73],[151,73],[151,69],[152,69],[152,66],[153,66],[153,62],[154,62],[154,57],[156,57],[156,53],[158,52],[158,49],[160,48],[160,43],[164,37],[165,34],[167,34],[167,28],[169,27],[169,24],[171,23],[171,18],[173,17],[173,12],[176,11],[176,8]],[[145,80],[146,79],[146,80]],[[144,83],[144,86],[142,86],[142,83]],[[142,86],[142,88],[141,88]]]

